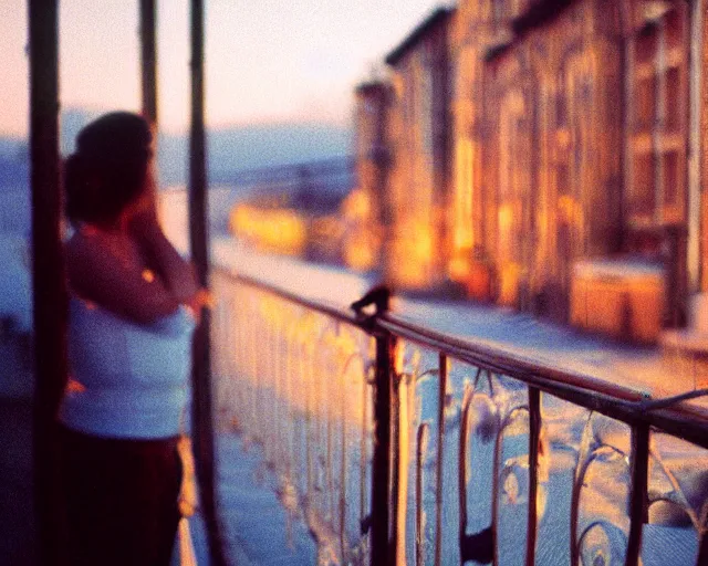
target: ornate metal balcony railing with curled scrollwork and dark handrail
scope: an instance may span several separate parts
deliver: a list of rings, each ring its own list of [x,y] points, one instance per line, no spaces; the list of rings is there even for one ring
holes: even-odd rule
[[[414,326],[384,293],[366,314],[218,269],[212,289],[218,418],[262,444],[323,564],[708,564],[700,403]]]

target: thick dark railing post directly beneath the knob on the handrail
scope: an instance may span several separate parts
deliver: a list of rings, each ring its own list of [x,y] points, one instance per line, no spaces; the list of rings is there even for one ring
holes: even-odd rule
[[[372,461],[371,564],[395,564],[396,542],[389,541],[391,401],[395,338],[383,332],[376,336],[374,385],[374,453]],[[389,555],[391,553],[391,555]]]

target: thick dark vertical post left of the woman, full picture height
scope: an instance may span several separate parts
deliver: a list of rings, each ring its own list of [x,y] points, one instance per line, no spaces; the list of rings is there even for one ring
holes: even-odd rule
[[[58,0],[29,1],[32,300],[34,306],[33,470],[40,564],[61,556],[55,416],[66,379],[66,286],[61,243]]]

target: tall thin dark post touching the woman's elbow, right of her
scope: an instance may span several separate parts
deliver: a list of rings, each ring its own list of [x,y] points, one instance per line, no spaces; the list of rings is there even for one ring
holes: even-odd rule
[[[191,0],[191,129],[189,137],[189,242],[191,258],[202,287],[209,284],[207,171],[204,108],[204,3]],[[192,439],[197,478],[209,553],[216,565],[226,564],[216,515],[214,424],[211,418],[211,353],[209,308],[201,310],[192,348]]]

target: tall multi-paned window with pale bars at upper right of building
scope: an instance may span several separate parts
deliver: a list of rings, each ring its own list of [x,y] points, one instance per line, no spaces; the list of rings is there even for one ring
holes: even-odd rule
[[[627,41],[626,207],[633,226],[686,221],[689,4],[635,1]]]

